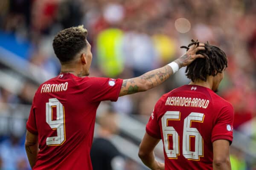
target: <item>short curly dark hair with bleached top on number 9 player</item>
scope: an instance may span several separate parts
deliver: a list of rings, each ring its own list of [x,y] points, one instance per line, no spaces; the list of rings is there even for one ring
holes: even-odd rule
[[[77,53],[87,47],[87,29],[83,25],[60,31],[52,42],[53,50],[61,63],[73,60]]]

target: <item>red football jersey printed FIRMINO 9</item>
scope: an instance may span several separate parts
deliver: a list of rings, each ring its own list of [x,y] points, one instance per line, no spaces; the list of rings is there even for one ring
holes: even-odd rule
[[[90,148],[96,110],[118,99],[122,79],[60,74],[35,93],[27,130],[38,134],[33,170],[92,170]]]

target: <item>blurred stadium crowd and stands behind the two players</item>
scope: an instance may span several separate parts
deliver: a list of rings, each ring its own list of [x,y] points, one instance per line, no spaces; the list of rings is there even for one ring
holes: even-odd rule
[[[220,46],[229,66],[218,94],[235,110],[232,167],[255,170],[255,21],[255,0],[1,0],[0,170],[29,169],[23,143],[30,105],[38,86],[60,71],[53,37],[81,24],[92,45],[90,76],[139,76],[183,54],[179,46],[192,38]],[[125,156],[125,170],[146,169],[137,156],[145,123],[162,94],[189,82],[184,71],[150,91],[102,102],[99,115],[119,115],[111,141]],[[162,150],[156,149],[160,160]]]

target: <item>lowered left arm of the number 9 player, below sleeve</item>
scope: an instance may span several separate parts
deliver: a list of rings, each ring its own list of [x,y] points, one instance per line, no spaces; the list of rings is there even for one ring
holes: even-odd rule
[[[25,148],[29,164],[33,168],[38,155],[38,136],[28,130],[26,131]]]

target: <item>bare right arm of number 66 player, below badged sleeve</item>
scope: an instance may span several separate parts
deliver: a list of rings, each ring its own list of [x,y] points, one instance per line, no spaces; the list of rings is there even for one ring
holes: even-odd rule
[[[213,147],[213,170],[231,170],[230,143],[227,140],[216,140]]]

